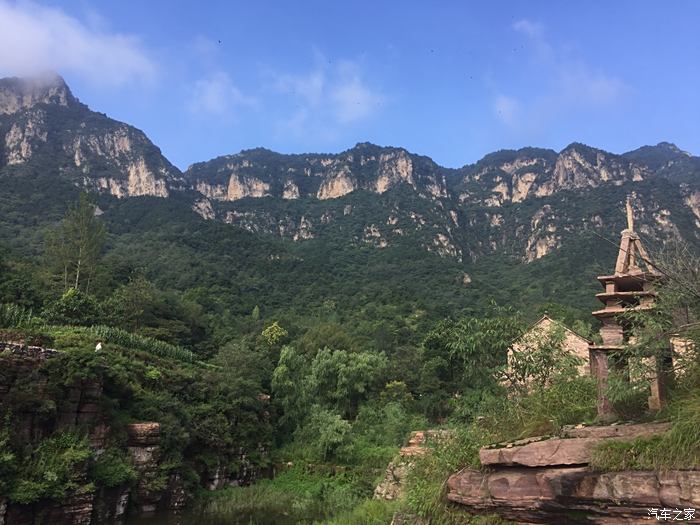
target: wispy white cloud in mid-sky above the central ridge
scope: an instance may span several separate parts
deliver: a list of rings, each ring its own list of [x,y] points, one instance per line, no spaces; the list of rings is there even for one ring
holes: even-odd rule
[[[319,53],[314,69],[275,75],[274,87],[296,106],[279,127],[299,136],[335,137],[344,127],[371,118],[384,100],[368,85],[359,64],[350,60],[330,64]]]

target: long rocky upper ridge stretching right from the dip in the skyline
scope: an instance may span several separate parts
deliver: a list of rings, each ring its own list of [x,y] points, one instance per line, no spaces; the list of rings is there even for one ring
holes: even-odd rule
[[[559,153],[523,148],[458,170],[371,144],[337,155],[256,149],[197,163],[184,178],[203,217],[250,231],[304,240],[353,223],[362,228],[349,242],[385,248],[409,237],[458,260],[506,252],[532,261],[588,229],[615,237],[631,192],[643,233],[698,240],[700,168],[658,161],[667,149],[649,147],[644,163],[576,143]]]

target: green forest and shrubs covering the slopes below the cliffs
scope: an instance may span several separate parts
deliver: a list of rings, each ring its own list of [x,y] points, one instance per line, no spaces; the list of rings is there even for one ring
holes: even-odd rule
[[[192,504],[221,523],[262,509],[269,523],[379,524],[397,509],[462,523],[443,483],[478,465],[480,446],[595,418],[595,385],[567,364],[561,340],[520,365],[524,375],[549,371],[541,387],[508,397],[502,381],[508,348],[544,312],[596,337],[590,307],[580,306],[593,304],[595,275],[583,290],[590,301],[569,288],[581,281],[565,271],[566,257],[581,257],[575,250],[527,268],[496,256],[465,267],[401,246],[288,243],[204,221],[172,200],[100,199],[76,194],[62,215],[56,206],[53,217],[15,220],[14,233],[4,220],[0,339],[60,350],[2,400],[0,489],[12,502],[134,483],[125,425],[157,421],[163,460],[149,487],[163,489],[178,472]],[[109,213],[96,213],[103,207]],[[550,288],[538,289],[543,276]],[[553,302],[551,288],[572,293]],[[669,286],[662,306],[697,314],[693,293]],[[657,321],[665,330],[675,322]],[[694,374],[672,405],[684,429],[697,406]],[[28,411],[51,421],[71,385],[94,380],[112,429],[99,457],[80,425],[29,446],[13,432]],[[623,390],[620,409],[647,417],[642,394]],[[453,437],[417,463],[404,500],[373,500],[398,447],[427,428]],[[601,451],[599,461],[645,465],[668,447]],[[676,451],[666,464],[700,457],[697,443]],[[87,477],[76,477],[85,462]],[[245,472],[246,485],[258,481],[205,491],[207,473],[222,466]]]

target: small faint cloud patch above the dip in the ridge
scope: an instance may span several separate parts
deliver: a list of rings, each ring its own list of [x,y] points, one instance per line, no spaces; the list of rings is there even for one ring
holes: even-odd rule
[[[189,108],[194,113],[226,117],[240,106],[252,106],[255,100],[243,95],[231,77],[218,71],[195,82]]]

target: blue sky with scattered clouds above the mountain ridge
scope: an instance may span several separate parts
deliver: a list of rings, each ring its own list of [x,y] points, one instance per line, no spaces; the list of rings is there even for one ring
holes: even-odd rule
[[[53,70],[178,167],[400,146],[700,153],[700,2],[0,0],[0,76]]]

